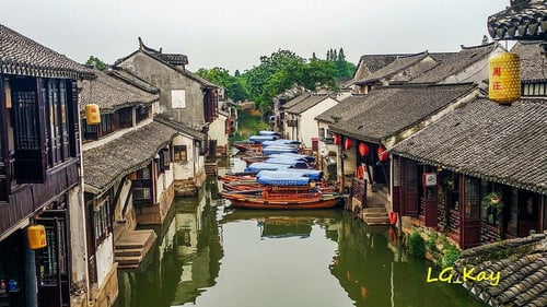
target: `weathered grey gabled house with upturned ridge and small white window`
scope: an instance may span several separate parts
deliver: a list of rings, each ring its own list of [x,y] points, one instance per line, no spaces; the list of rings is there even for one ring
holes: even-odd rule
[[[140,38],[139,49],[115,62],[115,67],[123,68],[160,88],[160,114],[205,133],[206,140],[196,143],[199,145],[198,155],[191,157],[199,163],[193,169],[194,187],[189,189],[197,190],[206,178],[205,156],[209,152],[210,141],[217,141],[214,143],[217,146],[223,145],[218,140],[209,138],[210,126],[219,117],[219,99],[223,98],[223,95],[219,93],[221,92],[219,85],[191,73],[186,69],[186,64],[188,64],[186,55],[164,54],[162,49],[155,50],[144,46]],[[219,133],[225,132],[223,125],[213,127],[222,129]],[[193,154],[191,151],[188,153]],[[184,193],[184,190],[188,190],[186,178],[175,178],[175,190]]]

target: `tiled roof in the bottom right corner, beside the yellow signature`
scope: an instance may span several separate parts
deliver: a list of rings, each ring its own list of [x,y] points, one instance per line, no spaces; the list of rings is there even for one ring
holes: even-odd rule
[[[466,279],[463,286],[491,306],[547,306],[547,239],[545,234],[488,244],[464,250],[454,280],[464,268],[500,274],[499,283]],[[511,257],[508,257],[510,255]]]

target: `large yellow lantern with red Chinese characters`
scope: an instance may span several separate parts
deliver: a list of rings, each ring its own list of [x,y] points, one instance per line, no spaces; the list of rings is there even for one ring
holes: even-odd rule
[[[489,59],[488,97],[511,104],[521,97],[521,60],[517,55],[501,52]]]

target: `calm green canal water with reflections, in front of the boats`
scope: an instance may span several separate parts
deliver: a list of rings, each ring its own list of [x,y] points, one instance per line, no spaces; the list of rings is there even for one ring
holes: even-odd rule
[[[209,178],[175,200],[141,267],[119,272],[116,307],[485,306],[461,285],[427,283],[430,263],[387,227],[341,209],[233,210],[219,189]]]

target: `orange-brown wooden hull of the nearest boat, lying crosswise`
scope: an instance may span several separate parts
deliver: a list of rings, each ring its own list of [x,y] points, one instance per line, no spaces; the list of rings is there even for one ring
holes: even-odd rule
[[[342,197],[337,193],[259,193],[256,191],[221,191],[220,196],[230,200],[231,208],[302,210],[327,209],[341,203]]]

